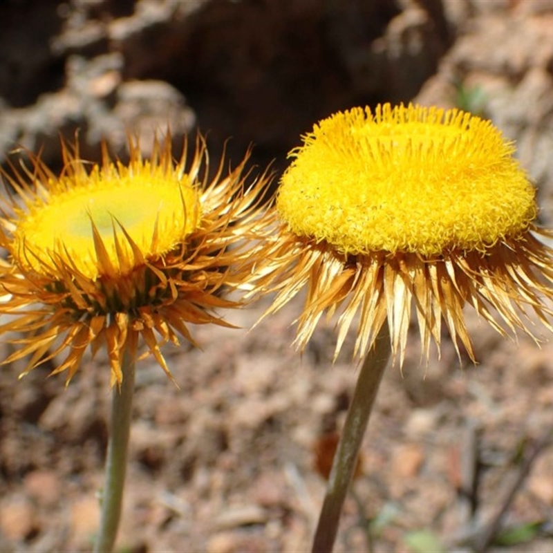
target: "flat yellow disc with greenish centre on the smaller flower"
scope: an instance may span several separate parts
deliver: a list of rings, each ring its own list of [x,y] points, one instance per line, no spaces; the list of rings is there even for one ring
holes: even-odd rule
[[[198,193],[178,168],[138,158],[86,173],[79,160],[73,163],[71,174],[50,182],[45,197],[21,214],[14,254],[27,269],[48,273],[61,260],[91,279],[106,268],[124,274],[135,252],[155,259],[200,221]]]

